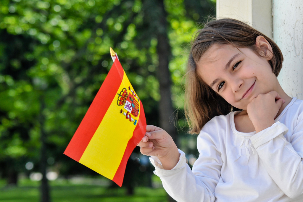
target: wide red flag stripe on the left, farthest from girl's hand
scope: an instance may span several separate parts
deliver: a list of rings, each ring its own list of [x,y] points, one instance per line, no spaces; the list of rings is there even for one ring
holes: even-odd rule
[[[108,110],[108,107],[115,98],[122,79],[123,68],[118,59],[116,59],[96,97],[92,101],[91,106],[88,108],[88,111],[72,137],[72,140],[66,147],[64,151],[65,155],[71,157],[75,161],[80,160],[88,143],[91,141],[106,111]]]

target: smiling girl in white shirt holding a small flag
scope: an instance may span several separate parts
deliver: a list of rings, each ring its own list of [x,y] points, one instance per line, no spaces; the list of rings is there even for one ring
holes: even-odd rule
[[[147,126],[138,144],[177,201],[303,201],[303,102],[277,76],[283,56],[234,19],[198,31],[187,65],[185,113],[199,133],[192,170],[169,134]]]

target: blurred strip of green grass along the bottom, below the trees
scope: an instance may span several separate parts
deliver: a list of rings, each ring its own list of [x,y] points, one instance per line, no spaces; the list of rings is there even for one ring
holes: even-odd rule
[[[135,187],[134,194],[126,195],[125,188],[109,188],[102,180],[90,180],[75,184],[70,180],[50,182],[52,202],[167,202],[167,194],[162,187]],[[94,183],[92,183],[94,182]],[[22,179],[18,186],[5,186],[0,180],[0,202],[39,201],[39,182]]]

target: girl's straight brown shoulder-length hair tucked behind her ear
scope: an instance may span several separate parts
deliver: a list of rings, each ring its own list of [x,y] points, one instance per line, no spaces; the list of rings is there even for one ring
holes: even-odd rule
[[[259,35],[264,36],[272,47],[273,57],[268,62],[273,73],[278,76],[283,62],[280,48],[270,38],[244,22],[230,18],[214,20],[205,24],[193,36],[185,75],[185,117],[189,124],[189,133],[198,134],[211,118],[238,110],[198,76],[196,64],[201,56],[214,44],[230,44],[236,48],[250,48],[261,57],[255,47]]]

